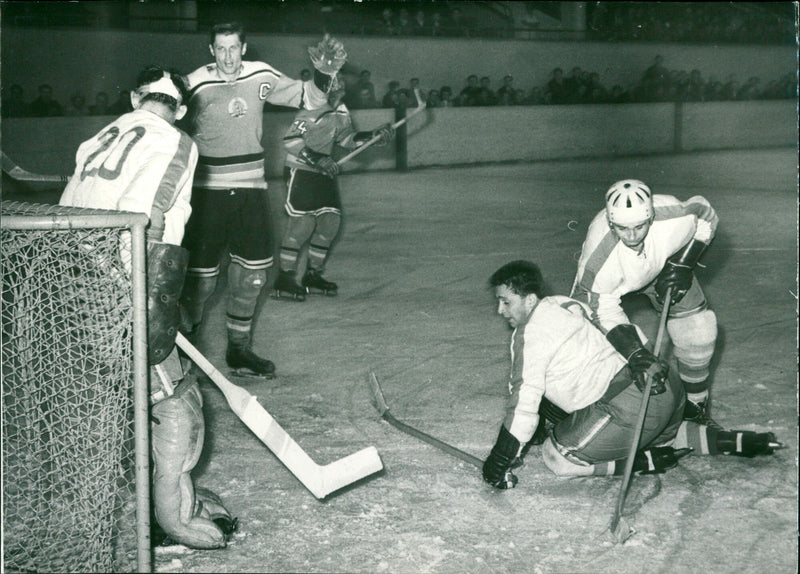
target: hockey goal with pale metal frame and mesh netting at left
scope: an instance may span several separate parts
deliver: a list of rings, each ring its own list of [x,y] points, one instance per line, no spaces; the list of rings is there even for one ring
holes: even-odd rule
[[[152,571],[147,223],[0,202],[5,571]]]

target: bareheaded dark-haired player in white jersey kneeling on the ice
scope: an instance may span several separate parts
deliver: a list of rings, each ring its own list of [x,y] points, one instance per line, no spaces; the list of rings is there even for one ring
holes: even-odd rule
[[[547,467],[562,476],[621,475],[633,440],[644,385],[625,358],[589,320],[591,309],[574,299],[545,296],[539,268],[512,261],[489,279],[497,312],[514,329],[506,416],[483,465],[486,482],[513,488],[537,428],[543,400],[563,410],[542,446]],[[650,398],[634,472],[662,473],[682,456],[772,454],[773,433],[726,431],[682,420],[685,394],[668,378]],[[548,417],[549,418],[549,417]]]

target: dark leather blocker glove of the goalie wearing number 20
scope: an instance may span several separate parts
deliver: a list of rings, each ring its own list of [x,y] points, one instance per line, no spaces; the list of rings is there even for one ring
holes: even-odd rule
[[[148,359],[157,365],[175,346],[181,323],[178,299],[183,290],[189,252],[179,245],[147,246]]]

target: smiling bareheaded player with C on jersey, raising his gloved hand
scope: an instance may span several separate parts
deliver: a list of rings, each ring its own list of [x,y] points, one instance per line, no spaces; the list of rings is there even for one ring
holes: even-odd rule
[[[201,323],[227,245],[226,361],[236,373],[272,378],[275,365],[251,349],[256,303],[273,264],[261,145],[264,104],[323,105],[325,93],[319,86],[344,64],[346,54],[339,42],[326,36],[309,49],[314,80],[302,82],[264,62],[243,61],[247,42],[241,24],[214,26],[209,50],[214,63],[188,77],[188,120],[200,160],[184,242],[191,253],[182,298],[188,315],[184,330],[191,333]]]

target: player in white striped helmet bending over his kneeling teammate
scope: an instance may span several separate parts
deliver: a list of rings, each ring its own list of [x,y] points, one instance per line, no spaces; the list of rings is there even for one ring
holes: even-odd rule
[[[717,318],[693,269],[717,230],[718,217],[701,196],[679,201],[654,195],[638,180],[622,180],[606,192],[606,208],[589,225],[572,296],[589,305],[592,321],[626,359],[633,374],[654,375],[663,391],[667,366],[646,348],[646,339],[622,309],[628,293],[646,295],[660,312],[673,288],[667,331],[687,393],[684,418],[715,425],[709,414],[709,364]]]

